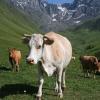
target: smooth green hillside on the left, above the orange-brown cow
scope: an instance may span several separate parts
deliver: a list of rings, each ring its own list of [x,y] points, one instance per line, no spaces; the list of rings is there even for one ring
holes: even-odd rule
[[[0,0],[0,56],[8,47],[22,49],[21,36],[24,33],[37,32],[39,29],[23,12],[16,10]],[[23,50],[23,49],[22,49]]]

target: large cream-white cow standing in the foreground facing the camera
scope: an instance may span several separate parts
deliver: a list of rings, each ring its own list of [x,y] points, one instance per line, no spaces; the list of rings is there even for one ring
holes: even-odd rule
[[[44,82],[43,73],[52,76],[57,75],[55,90],[60,98],[63,97],[62,88],[65,86],[65,68],[72,58],[72,46],[69,40],[57,33],[49,32],[45,35],[33,34],[24,35],[23,39],[28,42],[30,52],[27,62],[38,63],[39,89],[37,98],[41,99],[42,85]],[[25,42],[24,41],[24,42]]]

